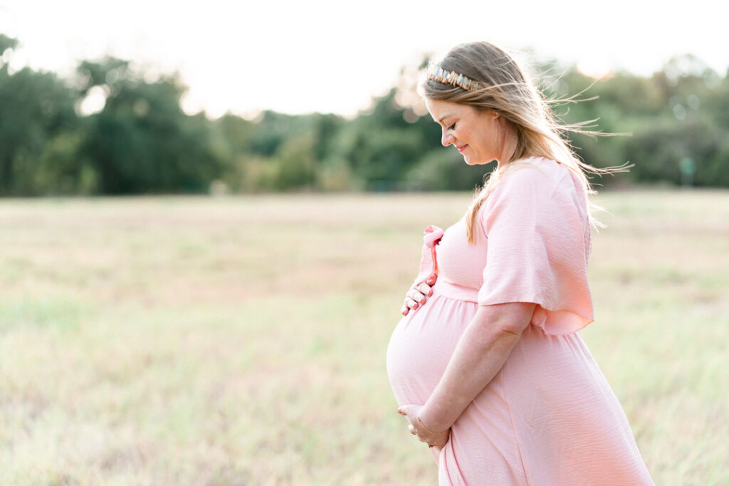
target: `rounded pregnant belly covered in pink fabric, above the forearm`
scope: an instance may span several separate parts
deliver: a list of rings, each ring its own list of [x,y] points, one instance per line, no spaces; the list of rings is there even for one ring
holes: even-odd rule
[[[473,302],[434,295],[400,320],[387,348],[387,373],[399,405],[425,403],[476,308]]]

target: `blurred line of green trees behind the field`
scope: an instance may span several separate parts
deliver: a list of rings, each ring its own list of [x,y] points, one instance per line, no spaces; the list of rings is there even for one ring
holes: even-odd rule
[[[483,180],[483,167],[440,146],[415,68],[352,119],[273,111],[209,119],[182,111],[186,87],[176,75],[151,79],[117,58],[82,61],[72,79],[11,72],[15,49],[0,34],[0,195],[447,190]],[[690,173],[696,186],[729,187],[729,73],[690,55],[652,77],[595,82],[556,63],[540,71],[550,97],[594,98],[556,106],[565,122],[598,119],[601,131],[632,134],[572,137],[593,165],[635,164],[601,184],[680,184]],[[94,100],[103,108],[85,113]]]

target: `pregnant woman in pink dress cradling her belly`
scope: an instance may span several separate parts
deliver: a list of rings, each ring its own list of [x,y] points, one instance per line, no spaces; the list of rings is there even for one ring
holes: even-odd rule
[[[498,162],[465,216],[426,229],[387,370],[440,485],[652,485],[578,331],[593,321],[592,189],[566,128],[504,50],[431,65],[428,110],[469,165]]]

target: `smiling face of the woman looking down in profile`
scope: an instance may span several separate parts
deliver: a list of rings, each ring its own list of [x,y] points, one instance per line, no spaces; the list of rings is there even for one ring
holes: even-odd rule
[[[480,111],[473,106],[426,98],[425,105],[440,125],[443,146],[453,145],[468,165],[488,164],[499,160],[498,114]]]

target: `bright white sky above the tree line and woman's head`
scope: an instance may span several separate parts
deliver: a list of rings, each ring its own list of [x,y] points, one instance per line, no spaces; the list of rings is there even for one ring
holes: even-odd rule
[[[191,113],[351,116],[401,66],[471,40],[644,75],[692,53],[723,75],[728,11],[716,0],[0,0],[0,33],[21,42],[11,68],[63,75],[110,54],[179,71]]]

